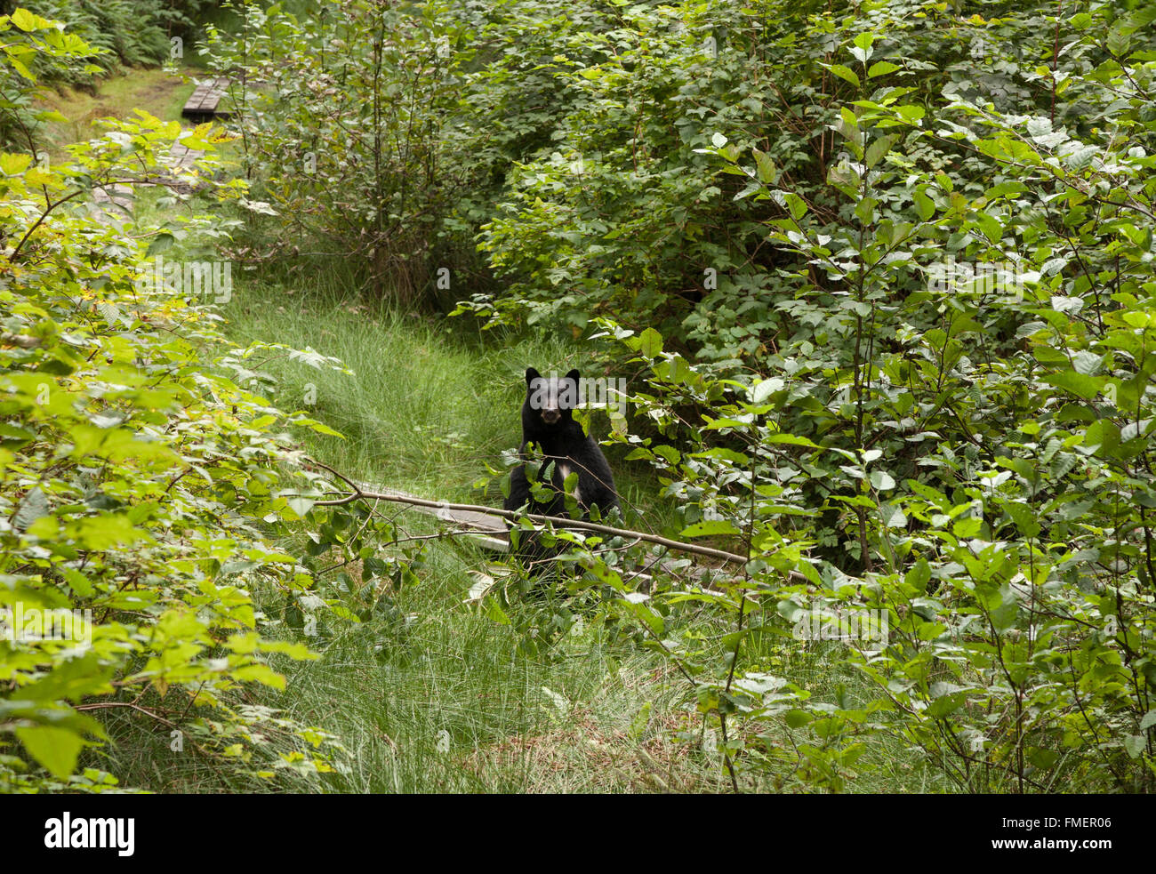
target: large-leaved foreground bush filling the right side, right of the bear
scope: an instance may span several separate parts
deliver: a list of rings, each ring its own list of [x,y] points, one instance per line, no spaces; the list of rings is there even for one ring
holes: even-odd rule
[[[636,436],[635,454],[679,498],[684,535],[751,556],[710,597],[732,628],[710,658],[692,630],[666,637],[681,588],[621,601],[720,720],[732,773],[786,762],[838,790],[892,738],[970,791],[1156,786],[1156,55],[1131,49],[1154,15],[1067,22],[1070,55],[1095,66],[1057,91],[1103,127],[954,86],[928,109],[887,84],[903,69],[880,59],[889,39],[855,34],[831,65],[853,88],[832,124],[835,223],[763,153],[712,138],[744,197],[784,213],[768,240],[800,259],[778,301],[793,335],[766,378],[720,378],[653,329],[610,328],[650,365],[635,400],[673,443]],[[702,415],[680,424],[688,403]],[[816,702],[741,667],[756,630],[810,612],[838,630],[839,609],[887,617],[883,640],[851,634],[845,651],[869,691]]]

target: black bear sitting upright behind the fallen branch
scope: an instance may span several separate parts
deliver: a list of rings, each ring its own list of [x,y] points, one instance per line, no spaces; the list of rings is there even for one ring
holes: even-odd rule
[[[573,420],[571,410],[578,405],[579,375],[571,370],[561,379],[542,377],[534,368],[526,369],[526,400],[521,405],[521,449],[527,458],[526,446],[533,443],[544,455],[541,472],[553,461],[550,484],[554,494],[549,501],[535,501],[526,479],[526,465],[521,464],[510,475],[510,496],[503,506],[518,510],[524,504],[531,513],[569,519],[563,484],[570,474],[577,474],[573,497],[584,519],[590,518],[590,509],[598,506],[605,517],[618,506],[618,494],[614,488],[614,475],[606,462],[602,450],[593,437]],[[541,560],[541,549],[532,536],[521,535],[518,553],[523,557]],[[528,542],[527,542],[528,541]]]

